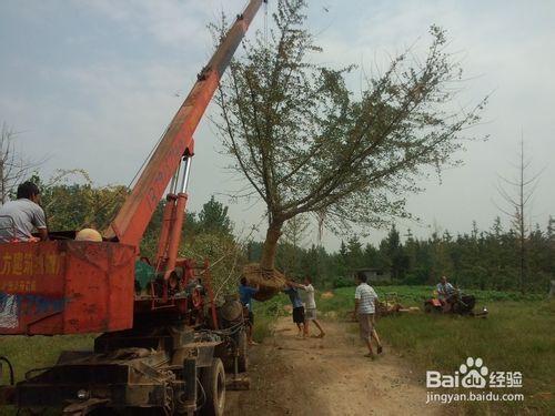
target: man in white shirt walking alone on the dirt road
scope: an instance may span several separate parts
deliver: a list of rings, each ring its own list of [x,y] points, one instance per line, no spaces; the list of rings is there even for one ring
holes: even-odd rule
[[[354,294],[354,316],[359,318],[359,328],[361,331],[361,338],[364,341],[369,348],[369,353],[364,355],[372,359],[375,358],[374,351],[372,349],[371,339],[374,338],[377,344],[377,354],[382,354],[382,343],[374,328],[374,313],[377,294],[374,288],[366,283],[366,275],[364,273],[356,274],[356,291]]]

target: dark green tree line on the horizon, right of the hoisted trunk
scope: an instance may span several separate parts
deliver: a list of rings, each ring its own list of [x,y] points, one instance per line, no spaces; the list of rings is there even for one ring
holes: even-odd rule
[[[391,284],[426,285],[442,275],[465,288],[516,291],[519,281],[519,236],[504,230],[495,219],[490,230],[480,231],[473,223],[471,233],[434,232],[417,239],[408,231],[404,235],[393,226],[377,246],[363,244],[356,235],[341,242],[340,250],[327,252],[323,246],[310,248],[280,244],[278,267],[291,276],[311,275],[320,286],[353,285],[353,274],[360,268],[379,268],[391,275]],[[524,291],[546,292],[555,275],[555,220],[545,229],[536,225],[526,236],[527,280]],[[248,247],[250,260],[259,258],[261,243]],[[383,282],[389,284],[390,282]]]

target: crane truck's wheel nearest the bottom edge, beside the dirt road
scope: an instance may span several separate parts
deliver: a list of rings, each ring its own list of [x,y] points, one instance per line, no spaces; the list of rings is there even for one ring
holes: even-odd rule
[[[212,365],[205,367],[201,375],[205,403],[200,414],[203,416],[222,416],[225,407],[225,371],[220,358],[213,358]]]

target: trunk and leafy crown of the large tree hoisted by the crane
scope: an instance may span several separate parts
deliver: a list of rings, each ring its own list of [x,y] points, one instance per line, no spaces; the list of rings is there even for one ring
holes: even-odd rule
[[[274,268],[282,229],[299,214],[325,215],[335,230],[408,215],[406,196],[458,163],[485,104],[455,105],[462,70],[437,27],[424,57],[407,50],[354,93],[353,65],[317,63],[324,51],[305,10],[305,0],[279,1],[268,35],[243,42],[215,97],[224,149],[266,207],[262,271]]]

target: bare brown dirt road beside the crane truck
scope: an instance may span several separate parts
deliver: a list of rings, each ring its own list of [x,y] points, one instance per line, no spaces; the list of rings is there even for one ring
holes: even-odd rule
[[[440,414],[406,362],[387,349],[372,362],[350,324],[324,325],[323,339],[299,339],[291,318],[280,318],[274,336],[251,348],[251,389],[228,392],[226,415]]]

